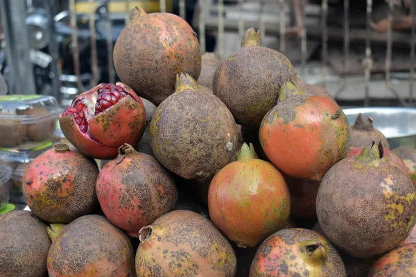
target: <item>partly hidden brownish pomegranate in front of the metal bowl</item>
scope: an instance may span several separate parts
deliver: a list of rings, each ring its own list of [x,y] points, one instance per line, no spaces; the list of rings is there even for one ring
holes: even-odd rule
[[[373,126],[370,117],[358,114],[356,122],[349,131],[349,146],[360,147],[372,143],[372,141],[382,141],[384,148],[389,148],[385,136]]]

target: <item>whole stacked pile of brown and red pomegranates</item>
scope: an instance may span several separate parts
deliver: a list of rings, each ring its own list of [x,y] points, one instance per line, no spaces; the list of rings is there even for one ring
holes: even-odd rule
[[[135,8],[114,62],[27,166],[0,276],[416,276],[416,150],[349,126],[259,31],[201,59],[186,21]]]

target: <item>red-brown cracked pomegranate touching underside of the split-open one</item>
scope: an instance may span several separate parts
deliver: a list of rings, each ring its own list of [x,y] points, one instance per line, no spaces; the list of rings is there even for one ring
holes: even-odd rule
[[[96,193],[105,217],[137,238],[141,227],[171,211],[177,200],[169,172],[154,157],[136,152],[127,143],[101,169]]]

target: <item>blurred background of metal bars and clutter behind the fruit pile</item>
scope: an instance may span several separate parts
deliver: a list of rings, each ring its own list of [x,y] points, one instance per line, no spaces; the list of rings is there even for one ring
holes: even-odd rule
[[[413,3],[412,3],[413,2]],[[245,29],[284,53],[298,75],[343,106],[415,105],[414,0],[0,0],[0,69],[10,94],[70,105],[99,82],[118,80],[112,48],[128,12],[173,12],[202,51],[224,58]]]

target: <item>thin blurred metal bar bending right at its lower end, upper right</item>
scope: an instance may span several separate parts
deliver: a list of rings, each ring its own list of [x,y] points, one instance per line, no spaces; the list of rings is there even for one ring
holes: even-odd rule
[[[388,1],[389,9],[387,16],[387,49],[385,53],[385,85],[399,100],[400,104],[406,107],[406,102],[401,98],[399,93],[393,89],[391,82],[391,66],[392,66],[392,21],[393,21],[393,12],[395,10],[395,1]]]

